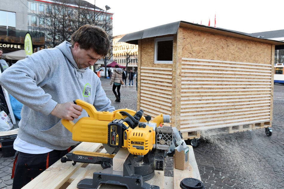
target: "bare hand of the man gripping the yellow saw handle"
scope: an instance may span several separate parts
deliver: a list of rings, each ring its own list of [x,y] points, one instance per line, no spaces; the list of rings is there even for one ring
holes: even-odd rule
[[[67,102],[57,104],[50,114],[61,119],[73,121],[74,118],[78,118],[81,115],[82,110],[81,106],[74,104],[73,102]]]

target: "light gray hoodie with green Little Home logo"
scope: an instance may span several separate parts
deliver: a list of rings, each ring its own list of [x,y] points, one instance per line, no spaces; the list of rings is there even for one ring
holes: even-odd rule
[[[81,99],[97,111],[114,111],[101,81],[89,68],[79,69],[67,41],[42,49],[10,66],[0,85],[23,104],[18,137],[54,150],[76,144],[61,119],[50,114],[57,103]],[[85,110],[78,118],[88,116]],[[78,119],[73,122],[76,123]]]

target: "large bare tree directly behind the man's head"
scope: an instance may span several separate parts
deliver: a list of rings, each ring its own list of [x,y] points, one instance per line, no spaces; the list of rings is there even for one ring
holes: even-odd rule
[[[58,3],[48,5],[44,19],[47,48],[55,47],[62,41],[70,41],[72,33],[85,24],[94,24],[104,29],[112,38],[112,24],[106,11],[87,1],[72,1],[77,6],[70,6],[70,0],[56,2]]]

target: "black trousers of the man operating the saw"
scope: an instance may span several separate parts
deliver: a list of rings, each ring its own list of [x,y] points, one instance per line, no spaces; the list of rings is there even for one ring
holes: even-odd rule
[[[13,189],[22,188],[73,148],[72,146],[67,150],[53,150],[45,154],[17,152],[11,176]]]

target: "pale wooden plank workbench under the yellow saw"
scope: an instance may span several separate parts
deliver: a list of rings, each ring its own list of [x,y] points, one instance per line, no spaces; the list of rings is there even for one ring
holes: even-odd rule
[[[91,142],[82,142],[73,151],[91,151],[99,152],[102,150],[102,144],[100,143],[91,143]],[[88,164],[88,163],[76,163],[72,165],[72,162],[62,163],[61,160],[58,160],[39,176],[29,182],[23,187],[23,189],[31,188],[59,188],[59,189],[73,189],[77,188],[79,181],[85,178],[93,178],[93,172],[102,170],[101,165],[98,164]],[[194,151],[192,146],[189,146],[189,166],[185,170],[178,170],[174,168],[174,177],[164,176],[164,171],[156,171],[155,176],[145,181],[151,185],[157,185],[161,189],[171,189],[171,188],[180,188],[180,181],[184,178],[191,177],[200,179],[199,170],[197,163],[194,157]],[[119,185],[105,185],[102,184],[99,187],[103,188],[126,188],[125,186]]]

